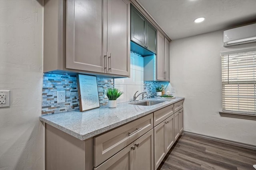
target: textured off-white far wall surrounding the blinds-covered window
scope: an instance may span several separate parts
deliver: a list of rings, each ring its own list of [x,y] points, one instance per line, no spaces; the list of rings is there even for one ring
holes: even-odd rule
[[[176,96],[185,97],[184,130],[256,145],[256,122],[221,117],[220,52],[241,50],[223,47],[223,30],[171,42],[171,84]]]

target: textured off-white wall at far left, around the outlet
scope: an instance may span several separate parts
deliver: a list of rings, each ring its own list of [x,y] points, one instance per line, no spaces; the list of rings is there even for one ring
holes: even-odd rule
[[[43,6],[37,0],[0,0],[0,170],[43,170]]]

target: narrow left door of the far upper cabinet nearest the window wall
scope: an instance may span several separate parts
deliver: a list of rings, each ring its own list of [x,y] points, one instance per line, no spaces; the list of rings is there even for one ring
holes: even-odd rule
[[[157,34],[156,80],[164,79],[164,35]]]

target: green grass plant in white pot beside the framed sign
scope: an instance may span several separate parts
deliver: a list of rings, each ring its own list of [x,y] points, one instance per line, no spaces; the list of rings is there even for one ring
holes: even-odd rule
[[[116,99],[119,98],[124,92],[121,92],[117,88],[109,88],[105,90],[104,93],[108,97],[108,107],[116,108]]]

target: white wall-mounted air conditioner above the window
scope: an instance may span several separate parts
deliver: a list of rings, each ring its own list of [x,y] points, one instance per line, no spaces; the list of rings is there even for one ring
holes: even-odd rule
[[[224,47],[256,42],[256,23],[224,31],[223,42]]]

